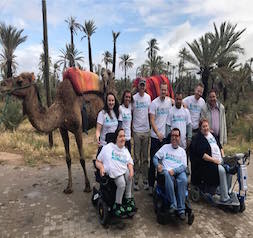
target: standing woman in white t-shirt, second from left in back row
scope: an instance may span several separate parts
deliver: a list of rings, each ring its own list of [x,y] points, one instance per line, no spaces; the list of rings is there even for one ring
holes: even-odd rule
[[[125,131],[125,146],[131,154],[131,123],[132,123],[132,94],[129,90],[125,90],[119,107],[119,124]]]

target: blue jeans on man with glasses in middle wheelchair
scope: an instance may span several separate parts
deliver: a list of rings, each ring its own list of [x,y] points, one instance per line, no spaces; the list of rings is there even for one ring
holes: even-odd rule
[[[162,172],[165,177],[165,196],[170,203],[170,207],[184,213],[185,211],[185,192],[187,188],[187,176],[185,172],[171,176],[167,170]],[[175,190],[175,184],[176,190]]]

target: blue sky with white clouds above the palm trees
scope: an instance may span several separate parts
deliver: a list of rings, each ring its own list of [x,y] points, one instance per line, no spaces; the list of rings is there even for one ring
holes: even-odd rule
[[[28,38],[15,51],[17,73],[38,73],[39,56],[43,51],[41,0],[1,0],[0,22],[24,29]],[[70,43],[70,31],[65,22],[70,16],[84,24],[94,20],[97,27],[91,37],[93,63],[102,64],[102,54],[112,53],[112,31],[120,32],[117,56],[130,54],[134,67],[127,72],[136,76],[136,68],[147,58],[147,41],[156,38],[159,55],[176,65],[178,52],[187,43],[213,31],[213,23],[223,21],[237,24],[237,30],[246,28],[239,43],[245,49],[240,62],[253,57],[253,1],[252,0],[48,0],[49,55],[53,63],[59,60],[60,49]],[[80,31],[74,36],[76,48],[84,56],[83,66],[88,69],[87,38]],[[189,49],[189,48],[188,48]],[[116,78],[123,77],[118,66]]]

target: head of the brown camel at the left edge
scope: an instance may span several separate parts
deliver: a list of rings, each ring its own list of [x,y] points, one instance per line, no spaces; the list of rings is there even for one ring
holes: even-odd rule
[[[23,98],[27,95],[27,91],[34,83],[34,80],[34,73],[21,73],[16,77],[3,80],[0,84],[0,92],[10,93],[14,96]]]

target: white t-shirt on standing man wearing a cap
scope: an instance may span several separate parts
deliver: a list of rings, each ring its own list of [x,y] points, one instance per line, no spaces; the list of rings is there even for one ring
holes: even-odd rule
[[[133,96],[133,131],[149,132],[149,107],[151,104],[150,96],[144,93],[143,97],[139,93]]]

